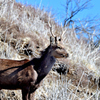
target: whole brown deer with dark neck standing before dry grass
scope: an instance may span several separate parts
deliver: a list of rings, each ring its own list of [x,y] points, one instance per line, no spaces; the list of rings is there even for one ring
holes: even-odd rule
[[[34,100],[35,91],[56,59],[68,56],[65,48],[58,45],[57,37],[50,37],[50,45],[41,51],[41,57],[31,60],[0,59],[0,90],[20,89],[23,100]]]

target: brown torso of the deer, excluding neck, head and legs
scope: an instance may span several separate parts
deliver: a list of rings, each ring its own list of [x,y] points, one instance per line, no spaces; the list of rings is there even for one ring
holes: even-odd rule
[[[0,59],[0,88],[19,89],[35,83],[37,72],[29,60]]]

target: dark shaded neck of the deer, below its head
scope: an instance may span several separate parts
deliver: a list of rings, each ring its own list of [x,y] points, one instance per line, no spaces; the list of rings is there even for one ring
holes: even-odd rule
[[[35,64],[34,67],[38,73],[38,82],[40,82],[49,73],[55,62],[56,59],[49,53],[46,53],[40,59],[38,59],[37,64]]]

